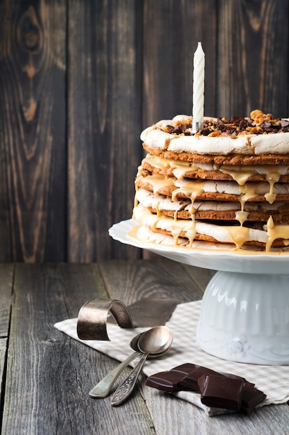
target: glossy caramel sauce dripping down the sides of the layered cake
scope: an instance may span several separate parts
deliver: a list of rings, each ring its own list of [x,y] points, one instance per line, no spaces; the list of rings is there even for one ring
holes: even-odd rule
[[[265,199],[269,204],[273,204],[277,194],[274,192],[274,184],[277,183],[280,179],[280,165],[261,165],[260,167],[254,166],[233,166],[233,165],[195,165],[189,162],[181,162],[181,161],[168,161],[164,158],[159,158],[157,156],[148,155],[146,157],[151,165],[158,167],[161,170],[170,169],[174,174],[175,178],[178,181],[184,180],[184,175],[188,170],[219,170],[224,174],[229,174],[236,183],[238,183],[240,192],[238,200],[240,202],[240,211],[236,211],[236,220],[240,223],[240,226],[222,226],[222,230],[227,231],[227,234],[231,241],[236,245],[236,249],[240,248],[247,240],[249,236],[249,228],[243,227],[244,222],[247,220],[248,212],[244,211],[245,203],[249,199],[254,199],[259,195],[259,186],[263,186],[264,183],[246,183],[249,177],[256,173],[260,173],[261,170],[263,174],[265,174],[266,181],[269,183],[269,192],[265,193]],[[205,169],[204,169],[205,166]],[[258,168],[258,171],[257,171]],[[287,168],[288,170],[288,168]],[[158,192],[161,188],[165,188],[167,186],[174,186],[175,183],[173,181],[173,177],[166,177],[159,174],[153,174],[146,177],[146,181],[152,185],[154,195],[158,195]],[[178,195],[182,194],[187,198],[191,199],[191,207],[189,209],[189,213],[191,213],[191,224],[188,225],[187,222],[184,224],[180,224],[182,220],[177,220],[177,211],[175,211],[173,223],[169,217],[161,216],[161,211],[159,207],[157,207],[157,220],[154,220],[152,223],[152,228],[155,229],[157,227],[158,221],[165,220],[170,222],[170,231],[175,240],[175,244],[178,245],[178,238],[181,232],[186,234],[186,237],[189,239],[190,246],[193,243],[196,234],[195,227],[195,208],[193,204],[195,199],[200,195],[200,193],[204,192],[204,186],[208,184],[208,181],[187,181],[184,183],[184,186],[176,188],[173,190],[172,199],[173,201],[177,201]],[[215,181],[216,188],[218,190],[218,182]],[[137,200],[135,199],[134,205],[137,205]],[[272,216],[268,220],[268,224],[265,226],[265,229],[268,231],[267,241],[266,241],[266,251],[270,251],[272,247],[272,243],[277,238],[283,238],[284,245],[289,245],[289,225],[274,225],[274,221]],[[286,241],[287,240],[287,241]]]

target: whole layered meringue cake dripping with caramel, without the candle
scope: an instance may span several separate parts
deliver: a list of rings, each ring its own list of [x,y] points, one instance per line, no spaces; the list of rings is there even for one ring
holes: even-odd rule
[[[139,240],[183,247],[289,249],[289,120],[161,120],[141,133]]]

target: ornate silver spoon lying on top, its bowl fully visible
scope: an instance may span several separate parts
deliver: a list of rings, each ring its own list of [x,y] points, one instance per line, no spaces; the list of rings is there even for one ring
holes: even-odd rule
[[[145,334],[141,335],[137,345],[139,350],[143,352],[143,356],[141,356],[137,366],[130,372],[130,375],[116,389],[110,402],[113,407],[123,403],[130,396],[148,355],[153,354],[157,356],[163,354],[170,348],[172,342],[173,333],[164,326],[149,329]]]

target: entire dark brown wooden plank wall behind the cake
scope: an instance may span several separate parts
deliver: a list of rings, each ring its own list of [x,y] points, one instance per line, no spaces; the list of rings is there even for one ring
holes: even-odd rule
[[[288,116],[288,0],[0,0],[0,261],[137,258],[141,129],[191,113]]]

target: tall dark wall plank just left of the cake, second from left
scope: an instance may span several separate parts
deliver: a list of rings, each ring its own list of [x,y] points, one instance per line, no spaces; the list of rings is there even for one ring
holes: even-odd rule
[[[107,230],[132,215],[141,158],[140,6],[69,1],[69,261],[137,256]]]

